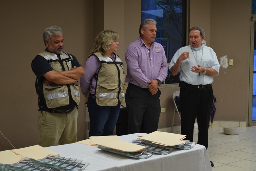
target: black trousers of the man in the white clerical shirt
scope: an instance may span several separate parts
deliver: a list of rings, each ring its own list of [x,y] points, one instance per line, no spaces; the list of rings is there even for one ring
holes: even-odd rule
[[[186,86],[180,88],[181,134],[193,141],[194,124],[197,119],[197,144],[208,147],[208,128],[212,111],[212,86],[197,89]]]

